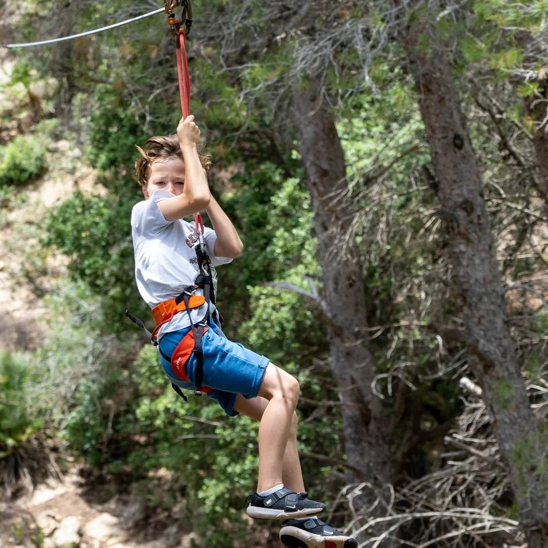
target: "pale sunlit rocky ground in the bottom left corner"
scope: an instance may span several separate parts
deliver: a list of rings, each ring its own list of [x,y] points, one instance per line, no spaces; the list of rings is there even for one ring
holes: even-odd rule
[[[191,548],[179,522],[150,521],[142,501],[105,498],[76,472],[15,501],[0,502],[0,548]],[[147,525],[144,527],[144,523]]]

